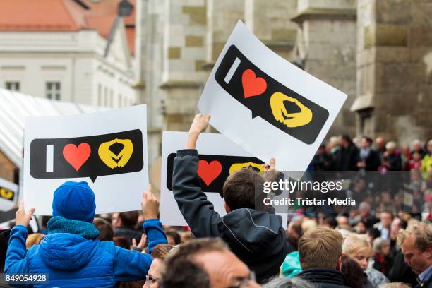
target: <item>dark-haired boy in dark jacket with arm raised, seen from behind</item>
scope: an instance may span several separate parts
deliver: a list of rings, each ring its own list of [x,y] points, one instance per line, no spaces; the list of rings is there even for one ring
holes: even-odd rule
[[[221,237],[256,273],[257,282],[263,282],[278,275],[287,255],[282,217],[254,209],[256,185],[263,185],[264,180],[252,169],[241,169],[225,181],[223,195],[227,215],[220,217],[214,210],[200,188],[197,174],[196,141],[209,121],[209,115],[195,116],[186,149],[179,150],[174,158],[174,198],[195,236]]]

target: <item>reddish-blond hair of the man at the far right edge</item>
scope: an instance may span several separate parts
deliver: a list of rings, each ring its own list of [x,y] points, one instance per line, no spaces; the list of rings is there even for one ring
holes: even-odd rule
[[[432,224],[419,221],[410,221],[407,229],[400,230],[400,232],[397,234],[397,244],[402,246],[404,241],[410,235],[414,235],[414,246],[416,246],[419,251],[423,252],[428,248],[432,248]]]

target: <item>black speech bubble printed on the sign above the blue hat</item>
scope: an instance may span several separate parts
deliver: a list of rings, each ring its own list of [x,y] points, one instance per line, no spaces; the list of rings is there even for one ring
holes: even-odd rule
[[[102,143],[106,144],[100,150]],[[47,169],[47,145],[53,146],[52,167],[49,169]],[[66,145],[69,148],[68,157],[66,157],[68,160],[64,155]],[[131,145],[133,150],[127,153]],[[90,153],[86,158],[88,150]],[[106,156],[104,162],[99,155],[100,152],[104,155],[112,152],[114,158]],[[49,152],[48,157],[50,155]],[[127,160],[127,157],[130,158]],[[112,158],[114,162],[109,158]],[[123,162],[121,162],[122,159]],[[114,167],[109,167],[106,162],[114,164]],[[141,171],[144,166],[143,162],[143,133],[138,129],[77,138],[35,139],[30,143],[30,175],[37,179],[90,177],[94,182],[97,176]],[[119,164],[123,167],[115,167]]]

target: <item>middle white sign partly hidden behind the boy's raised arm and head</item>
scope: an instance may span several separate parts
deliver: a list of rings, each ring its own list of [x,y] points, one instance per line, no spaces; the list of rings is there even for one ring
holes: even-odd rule
[[[172,168],[177,150],[184,149],[188,133],[162,133],[162,173],[160,185],[160,221],[164,225],[187,226],[172,193]],[[213,203],[215,211],[223,217],[224,200],[222,185],[230,172],[252,165],[256,169],[262,162],[239,145],[236,145],[222,134],[201,133],[196,145],[199,164],[198,175],[202,179],[201,188],[208,200]],[[219,163],[219,164],[218,164]],[[262,168],[261,168],[262,169]],[[281,214],[284,227],[287,225],[287,214]]]

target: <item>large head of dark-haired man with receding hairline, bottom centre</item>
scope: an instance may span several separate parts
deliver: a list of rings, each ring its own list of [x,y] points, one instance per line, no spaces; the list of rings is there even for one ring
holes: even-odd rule
[[[160,288],[260,287],[248,266],[220,239],[193,239],[182,244],[169,253],[164,265],[167,269],[162,272]]]

